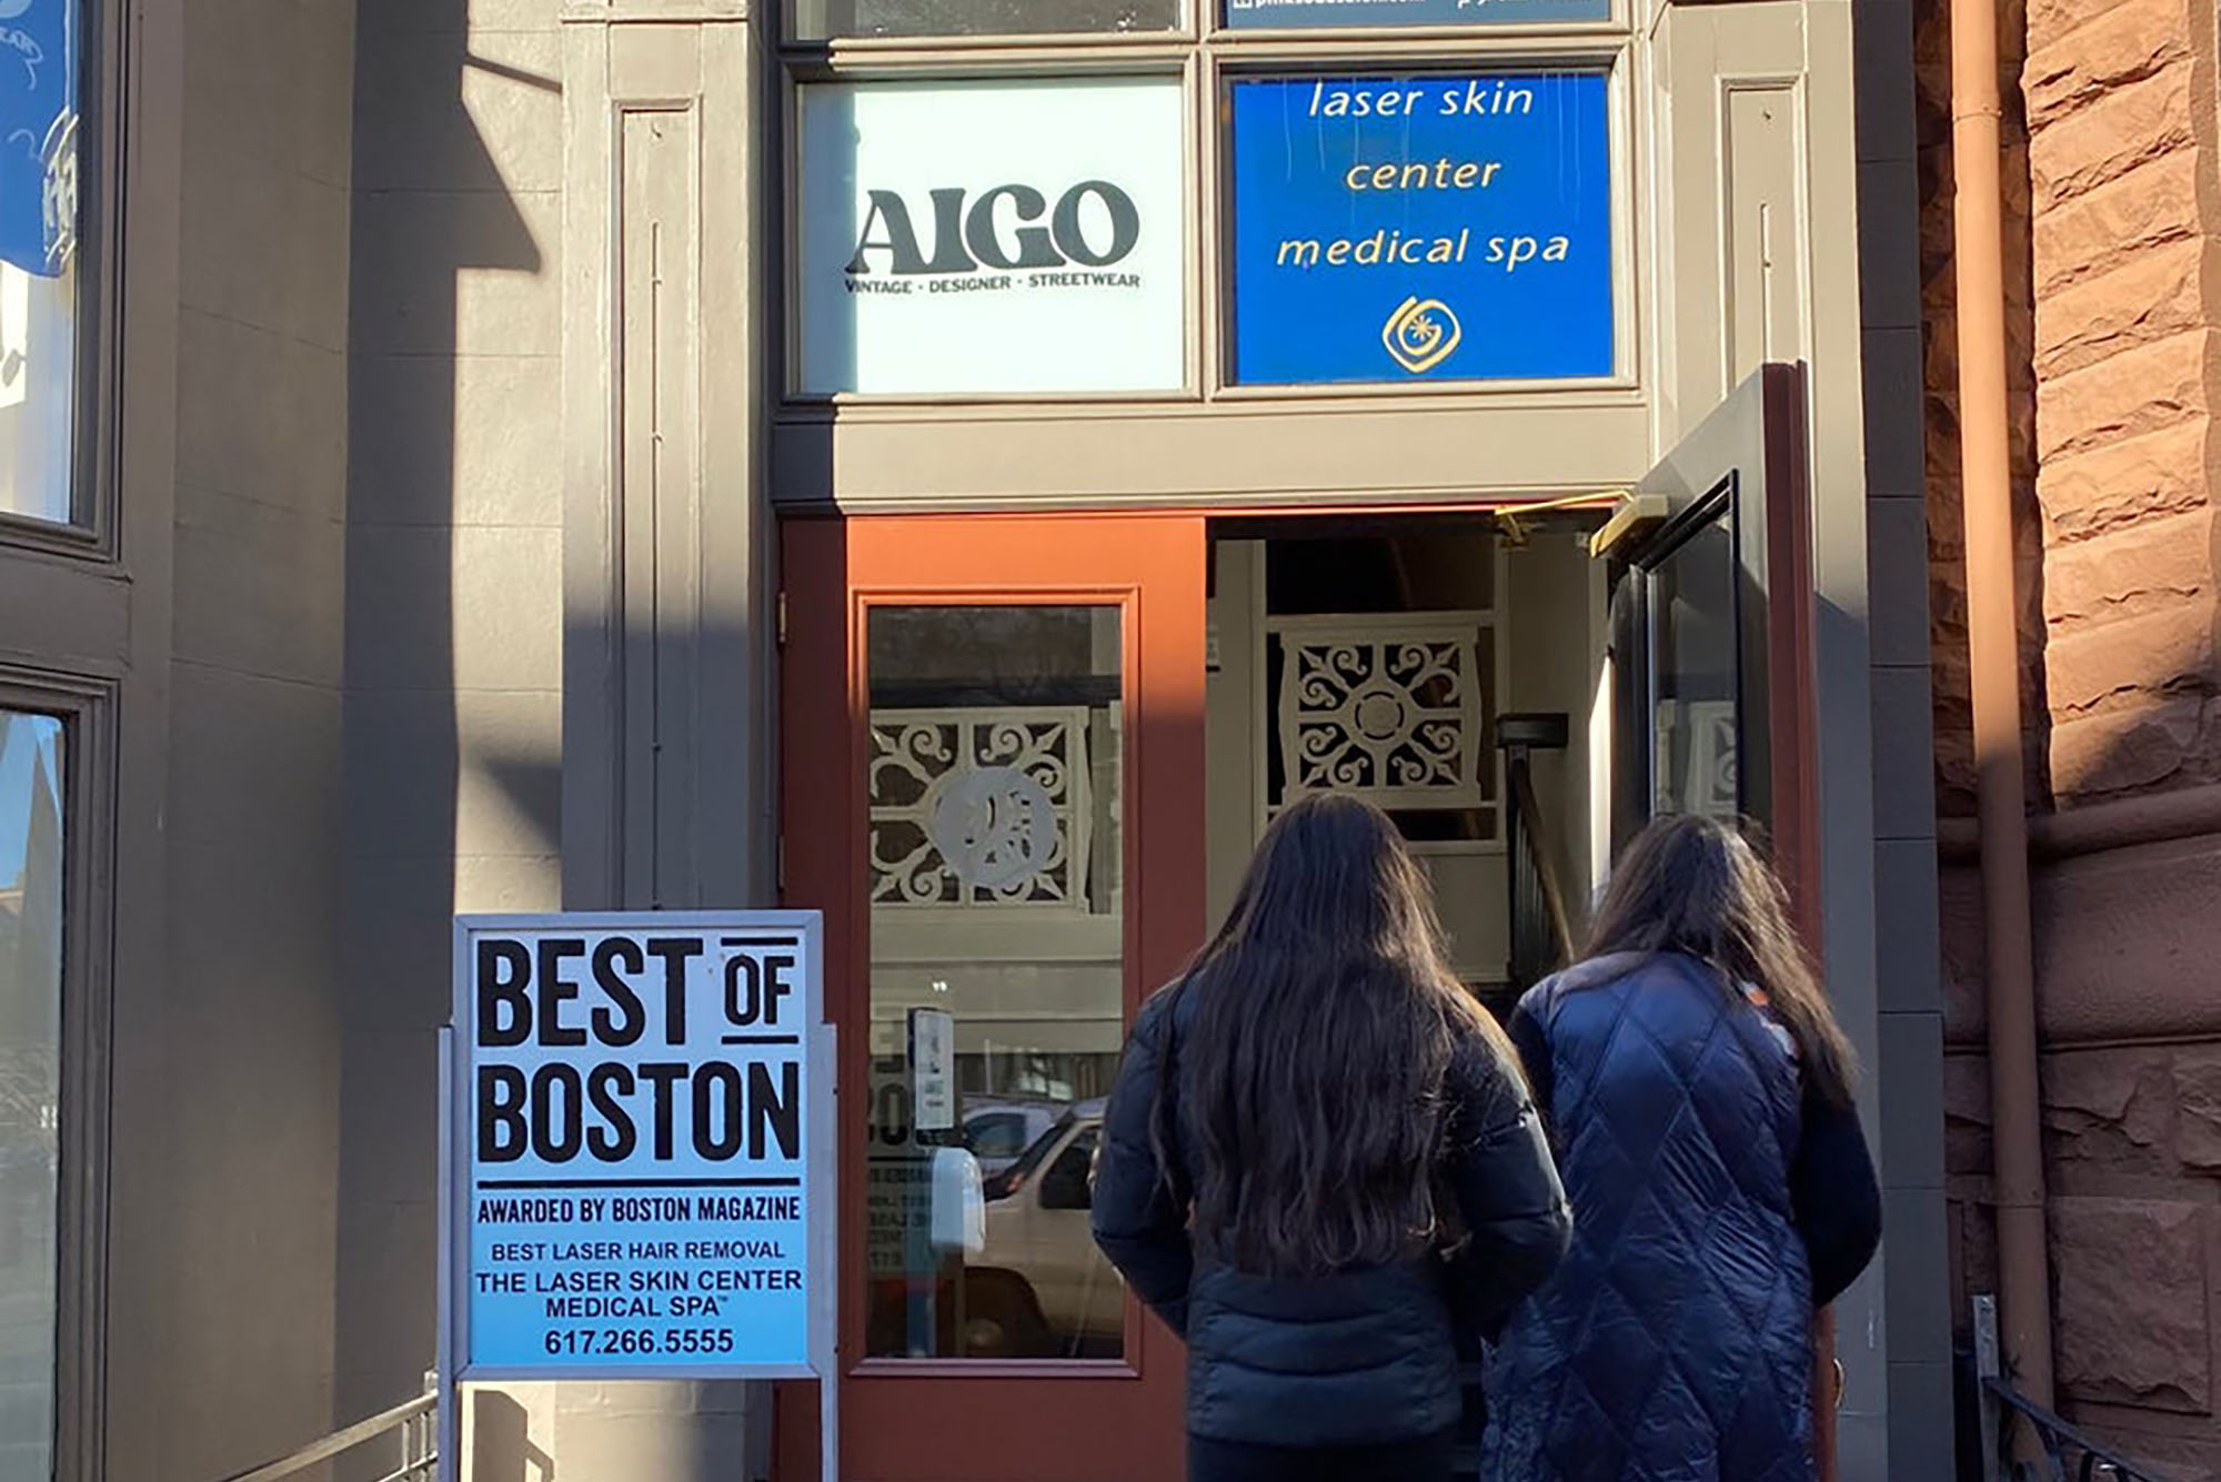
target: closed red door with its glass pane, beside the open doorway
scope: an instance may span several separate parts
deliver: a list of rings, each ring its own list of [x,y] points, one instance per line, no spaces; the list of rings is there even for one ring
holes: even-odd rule
[[[1088,1231],[1126,1025],[1204,934],[1204,521],[782,530],[784,899],[826,916],[842,1475],[1179,1475],[1179,1342]],[[815,1387],[777,1475],[817,1478]]]

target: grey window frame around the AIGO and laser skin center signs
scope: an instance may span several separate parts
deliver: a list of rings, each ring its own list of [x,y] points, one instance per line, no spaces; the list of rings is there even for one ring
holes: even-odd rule
[[[915,417],[957,413],[995,422],[1042,408],[1119,408],[1135,415],[1257,413],[1264,408],[1481,408],[1506,402],[1552,406],[1619,404],[1646,395],[1652,379],[1648,306],[1650,206],[1639,182],[1650,149],[1635,106],[1646,38],[1635,0],[1612,0],[1608,20],[1468,22],[1464,27],[1226,27],[1224,0],[1184,0],[1170,31],[1051,31],[1026,35],[855,35],[800,40],[800,0],[777,0],[775,44],[766,67],[764,118],[775,160],[777,229],[766,233],[768,282],[782,286],[780,322],[768,335],[768,382],[782,424],[813,424],[864,413]],[[1244,384],[1233,377],[1233,151],[1222,115],[1237,80],[1279,75],[1421,75],[1453,71],[1597,71],[1606,78],[1610,138],[1612,370],[1590,377]],[[1186,260],[1186,384],[1148,393],[811,393],[802,388],[800,229],[802,102],[808,84],[1082,80],[1099,75],[1177,75],[1186,91],[1188,193],[1182,213]]]

